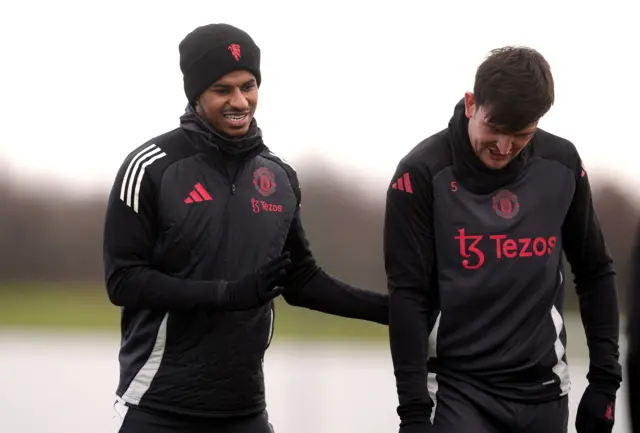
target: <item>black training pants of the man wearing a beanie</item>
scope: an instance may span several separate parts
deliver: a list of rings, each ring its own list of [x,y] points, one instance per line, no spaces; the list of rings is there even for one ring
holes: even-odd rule
[[[266,412],[233,420],[159,414],[116,402],[113,433],[273,433]]]

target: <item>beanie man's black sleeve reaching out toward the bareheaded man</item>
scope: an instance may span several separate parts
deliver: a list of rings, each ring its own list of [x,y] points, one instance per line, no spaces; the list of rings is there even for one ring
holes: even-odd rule
[[[316,264],[302,226],[300,207],[296,209],[284,250],[291,253],[292,262],[283,293],[287,303],[346,318],[384,325],[389,322],[386,294],[350,286]]]

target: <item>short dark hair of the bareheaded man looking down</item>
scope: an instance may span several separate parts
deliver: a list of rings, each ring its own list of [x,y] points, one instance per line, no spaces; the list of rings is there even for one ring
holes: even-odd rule
[[[538,51],[507,46],[492,50],[476,71],[473,93],[489,122],[507,132],[538,121],[553,105],[549,63]]]

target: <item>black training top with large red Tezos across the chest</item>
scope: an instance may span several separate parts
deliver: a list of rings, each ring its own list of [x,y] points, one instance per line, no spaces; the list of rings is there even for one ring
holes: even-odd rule
[[[569,392],[563,250],[586,323],[589,380],[614,390],[621,381],[612,260],[575,147],[539,129],[507,167],[491,170],[467,125],[461,101],[447,129],[400,161],[387,194],[402,423],[429,418],[427,387],[438,376],[527,402]]]

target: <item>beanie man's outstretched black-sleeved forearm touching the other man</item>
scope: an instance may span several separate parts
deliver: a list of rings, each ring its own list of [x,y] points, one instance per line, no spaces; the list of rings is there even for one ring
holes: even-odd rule
[[[352,287],[321,269],[299,287],[287,287],[283,296],[298,307],[383,325],[389,323],[387,295]]]

